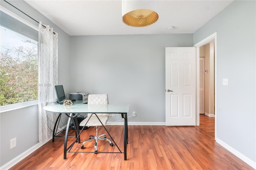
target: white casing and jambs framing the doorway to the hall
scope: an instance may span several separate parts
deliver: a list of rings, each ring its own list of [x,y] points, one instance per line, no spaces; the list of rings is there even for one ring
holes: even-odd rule
[[[217,69],[216,69],[216,61],[217,61],[217,51],[216,51],[216,46],[217,46],[217,32],[215,32],[214,34],[208,36],[207,38],[205,38],[204,40],[196,43],[194,45],[194,47],[196,47],[196,64],[198,65],[198,67],[196,68],[196,125],[199,126],[200,125],[200,67],[199,67],[199,63],[200,63],[200,47],[202,47],[203,45],[206,45],[208,43],[213,43],[214,44],[214,49],[213,49],[213,53],[214,53],[214,60],[212,61],[213,64],[213,70],[212,73],[214,73],[213,77],[213,82],[212,82],[212,88],[214,91],[214,136],[215,136],[215,140],[216,140],[216,134],[217,134],[217,130],[218,127],[216,126],[217,124],[217,103],[216,103],[216,99],[217,99],[217,88],[216,88],[216,79],[217,79]]]

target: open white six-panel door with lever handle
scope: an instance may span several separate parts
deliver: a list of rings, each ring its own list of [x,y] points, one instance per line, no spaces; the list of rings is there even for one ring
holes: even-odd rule
[[[166,126],[196,125],[196,48],[166,47]]]

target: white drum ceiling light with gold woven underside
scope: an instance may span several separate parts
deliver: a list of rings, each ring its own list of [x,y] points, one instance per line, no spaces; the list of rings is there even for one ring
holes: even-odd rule
[[[157,0],[122,0],[124,24],[132,27],[145,27],[158,20]]]

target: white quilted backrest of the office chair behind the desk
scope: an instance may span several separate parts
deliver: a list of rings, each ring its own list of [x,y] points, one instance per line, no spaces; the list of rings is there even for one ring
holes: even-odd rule
[[[108,104],[108,94],[93,94],[88,95],[88,105],[107,105]],[[91,114],[88,113],[88,117]],[[107,115],[108,113],[97,113],[97,115]]]

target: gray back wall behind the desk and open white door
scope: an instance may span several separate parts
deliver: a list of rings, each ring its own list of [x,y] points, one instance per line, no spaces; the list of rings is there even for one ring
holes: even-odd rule
[[[165,123],[165,47],[192,46],[192,34],[72,36],[71,44],[74,92],[130,104],[129,122]]]

